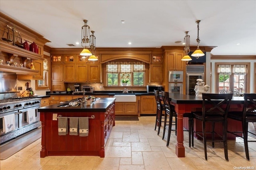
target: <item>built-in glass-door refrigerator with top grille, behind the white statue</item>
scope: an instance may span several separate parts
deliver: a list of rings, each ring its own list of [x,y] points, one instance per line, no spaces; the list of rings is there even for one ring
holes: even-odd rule
[[[197,79],[204,80],[204,65],[187,65],[186,66],[186,94],[196,96],[194,88]]]

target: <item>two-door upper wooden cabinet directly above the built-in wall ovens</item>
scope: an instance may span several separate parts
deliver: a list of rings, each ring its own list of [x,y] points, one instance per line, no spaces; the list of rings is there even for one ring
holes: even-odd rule
[[[181,61],[184,53],[169,52],[167,53],[167,69],[168,70],[184,70],[185,63]]]

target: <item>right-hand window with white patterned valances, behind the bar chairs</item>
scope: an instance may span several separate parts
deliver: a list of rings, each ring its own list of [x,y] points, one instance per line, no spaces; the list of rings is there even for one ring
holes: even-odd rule
[[[246,73],[246,64],[218,64],[218,91],[243,96],[247,91]]]

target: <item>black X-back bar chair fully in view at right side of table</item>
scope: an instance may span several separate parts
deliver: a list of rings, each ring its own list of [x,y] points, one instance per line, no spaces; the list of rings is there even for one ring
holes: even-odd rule
[[[214,142],[223,142],[224,145],[224,153],[226,161],[228,161],[228,140],[227,140],[227,117],[228,117],[228,110],[230,107],[230,102],[232,99],[233,94],[208,94],[203,93],[203,105],[202,111],[195,111],[192,112],[192,123],[191,123],[191,131],[192,131],[192,146],[194,146],[194,133],[198,136],[202,137],[204,141],[204,156],[205,160],[207,160],[207,150],[206,150],[206,142],[212,142],[212,147],[214,148]],[[194,119],[202,121],[202,132],[194,131]],[[212,131],[206,132],[206,122],[212,123]],[[223,134],[220,135],[214,131],[215,123],[221,122],[222,123],[222,130]],[[206,133],[211,133],[212,139],[208,139],[206,137]],[[214,139],[215,135],[218,135],[219,139]]]

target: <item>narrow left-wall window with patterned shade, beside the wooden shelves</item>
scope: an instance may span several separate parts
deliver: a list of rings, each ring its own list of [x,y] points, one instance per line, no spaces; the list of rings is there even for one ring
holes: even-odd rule
[[[49,66],[48,59],[44,59],[43,80],[36,80],[36,90],[49,89]]]

